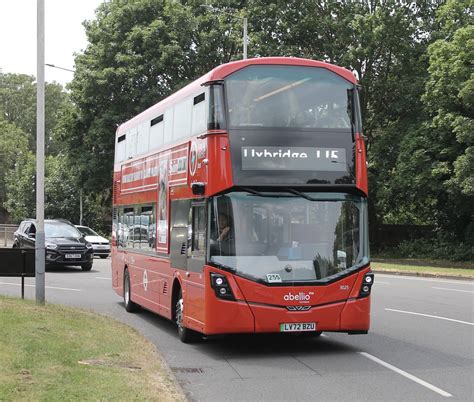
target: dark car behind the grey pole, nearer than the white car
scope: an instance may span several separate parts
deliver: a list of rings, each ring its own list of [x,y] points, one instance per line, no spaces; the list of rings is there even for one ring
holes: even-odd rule
[[[13,247],[35,248],[37,222],[26,219],[14,233]],[[46,266],[76,265],[90,271],[93,264],[93,249],[81,232],[66,220],[44,221]]]

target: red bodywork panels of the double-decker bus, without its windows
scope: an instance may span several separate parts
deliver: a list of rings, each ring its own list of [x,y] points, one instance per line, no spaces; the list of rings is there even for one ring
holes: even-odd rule
[[[209,83],[220,82],[233,73],[254,65],[323,68],[356,85],[346,69],[328,63],[296,58],[261,58],[219,66],[180,91],[122,124],[117,139],[134,127],[149,122],[181,99],[198,94]],[[166,118],[166,117],[165,117]],[[123,137],[122,137],[123,138]],[[125,140],[126,141],[126,140]],[[317,140],[315,139],[315,142]],[[114,165],[114,214],[122,206],[160,205],[166,200],[166,218],[154,213],[156,244],[142,251],[121,247],[120,225],[114,223],[112,236],[112,286],[124,295],[124,272],[130,277],[131,301],[170,320],[181,292],[184,305],[182,325],[205,335],[279,332],[281,323],[316,323],[317,331],[366,333],[370,325],[370,294],[361,296],[369,264],[325,284],[268,286],[220,269],[206,262],[201,271],[173,268],[170,264],[171,203],[183,199],[207,199],[235,187],[227,129],[204,130],[157,149],[116,161]],[[368,193],[365,143],[354,133],[355,183],[353,191]],[[160,171],[160,168],[161,171]],[[162,177],[166,175],[166,177]],[[160,189],[160,180],[164,186]],[[204,189],[193,191],[193,184]],[[330,186],[326,186],[326,190]],[[352,191],[352,190],[351,190]],[[163,216],[162,216],[163,218]],[[166,223],[163,223],[166,222]],[[225,276],[234,300],[216,297],[211,273]],[[371,283],[370,283],[371,285]],[[369,288],[370,293],[370,288]]]

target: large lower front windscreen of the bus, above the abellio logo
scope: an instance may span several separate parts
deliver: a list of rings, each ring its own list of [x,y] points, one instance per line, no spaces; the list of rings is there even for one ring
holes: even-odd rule
[[[210,260],[266,282],[327,281],[368,261],[366,203],[336,193],[214,198]]]

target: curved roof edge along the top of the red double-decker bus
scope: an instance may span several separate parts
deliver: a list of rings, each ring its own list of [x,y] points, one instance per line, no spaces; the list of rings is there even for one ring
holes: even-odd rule
[[[168,96],[167,98],[163,99],[162,101],[156,103],[155,105],[149,107],[142,113],[133,117],[132,119],[121,124],[117,128],[116,135],[118,136],[123,134],[123,132],[135,126],[140,121],[157,117],[157,113],[159,111],[166,109],[168,105],[172,105],[178,102],[180,99],[183,99],[196,92],[197,89],[200,88],[206,82],[223,80],[232,73],[235,73],[236,71],[241,70],[244,67],[261,64],[326,68],[353,84],[357,83],[356,78],[349,70],[323,61],[300,59],[296,57],[260,57],[254,59],[233,61],[217,66],[213,70],[209,71],[207,74],[181,88],[179,91],[173,93],[172,95]]]

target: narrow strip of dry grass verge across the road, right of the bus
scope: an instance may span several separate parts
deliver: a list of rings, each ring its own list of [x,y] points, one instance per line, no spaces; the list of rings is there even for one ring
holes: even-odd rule
[[[473,263],[451,263],[432,260],[385,260],[373,259],[372,269],[376,271],[413,273],[418,275],[452,276],[474,279]]]

